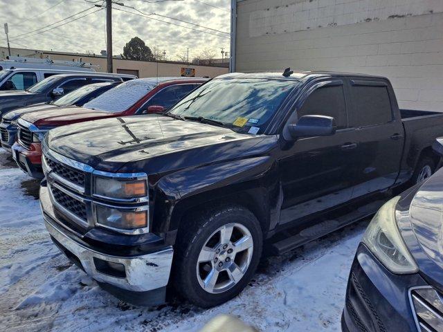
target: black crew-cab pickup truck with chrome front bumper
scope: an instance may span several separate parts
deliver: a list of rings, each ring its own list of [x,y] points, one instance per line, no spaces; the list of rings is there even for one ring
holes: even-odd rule
[[[400,111],[384,77],[233,73],[163,115],[49,131],[40,201],[60,250],[120,299],[168,290],[210,307],[242,291],[262,252],[430,176],[442,135],[443,114]]]

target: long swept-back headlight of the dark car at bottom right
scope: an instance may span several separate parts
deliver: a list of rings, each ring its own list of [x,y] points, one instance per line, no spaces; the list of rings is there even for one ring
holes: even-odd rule
[[[399,199],[399,196],[391,199],[375,214],[363,236],[363,243],[390,272],[416,273],[417,264],[410,255],[395,220],[395,205]]]

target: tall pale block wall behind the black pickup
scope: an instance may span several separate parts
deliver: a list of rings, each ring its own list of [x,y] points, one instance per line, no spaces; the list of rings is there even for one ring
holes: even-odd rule
[[[400,107],[443,111],[443,0],[237,2],[236,71],[390,78]]]

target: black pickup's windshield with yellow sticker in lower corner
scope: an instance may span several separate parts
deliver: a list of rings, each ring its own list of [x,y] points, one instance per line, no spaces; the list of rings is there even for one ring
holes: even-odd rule
[[[190,93],[168,113],[186,120],[208,123],[212,120],[239,132],[257,133],[258,129],[264,130],[297,85],[293,80],[215,79]]]

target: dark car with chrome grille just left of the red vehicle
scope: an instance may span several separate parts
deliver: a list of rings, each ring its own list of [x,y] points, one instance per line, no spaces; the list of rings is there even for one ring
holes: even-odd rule
[[[39,104],[34,104],[29,107],[23,107],[21,109],[15,109],[7,113],[0,122],[0,138],[1,147],[6,151],[12,152],[12,144],[15,142],[17,136],[17,120],[20,116],[26,113],[31,113],[35,111],[45,111],[48,109],[60,109],[60,107],[66,106],[76,106],[81,107],[83,104],[93,100],[93,98],[98,97],[102,93],[114,88],[121,82],[102,82],[93,83],[82,86],[61,98],[52,100],[51,102],[41,102]]]

